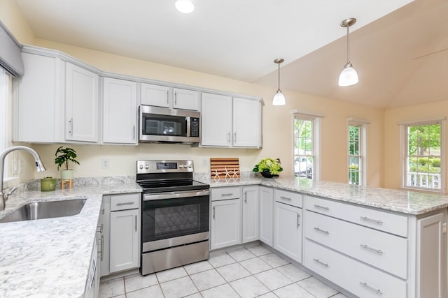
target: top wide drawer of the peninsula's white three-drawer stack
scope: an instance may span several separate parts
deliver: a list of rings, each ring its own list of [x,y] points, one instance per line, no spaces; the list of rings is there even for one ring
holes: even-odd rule
[[[384,232],[407,237],[407,217],[305,195],[305,208]]]

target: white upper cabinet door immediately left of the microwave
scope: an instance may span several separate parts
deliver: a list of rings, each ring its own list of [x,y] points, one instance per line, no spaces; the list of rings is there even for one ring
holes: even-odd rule
[[[137,144],[137,82],[103,79],[103,142]]]

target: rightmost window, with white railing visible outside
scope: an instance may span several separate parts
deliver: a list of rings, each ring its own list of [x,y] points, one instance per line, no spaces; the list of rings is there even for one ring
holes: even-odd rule
[[[403,125],[405,188],[444,190],[444,120]]]

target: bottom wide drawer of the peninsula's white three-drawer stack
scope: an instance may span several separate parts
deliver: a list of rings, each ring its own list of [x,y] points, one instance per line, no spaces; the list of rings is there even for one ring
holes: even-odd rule
[[[304,266],[358,297],[407,297],[406,281],[308,239],[304,243]]]

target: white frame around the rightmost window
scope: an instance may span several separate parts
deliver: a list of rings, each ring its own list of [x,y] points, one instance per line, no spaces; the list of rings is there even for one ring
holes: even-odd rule
[[[444,117],[435,118],[435,119],[425,119],[425,120],[416,120],[416,121],[403,121],[399,123],[401,126],[400,129],[400,161],[401,161],[401,185],[402,188],[409,191],[425,191],[430,193],[445,193],[446,191],[446,166],[445,166],[445,158],[444,152],[446,151],[446,142],[445,142],[445,134],[446,134],[446,119]],[[437,188],[423,188],[417,186],[407,186],[407,158],[408,158],[408,134],[407,128],[409,126],[424,126],[430,124],[440,124],[440,189]]]

